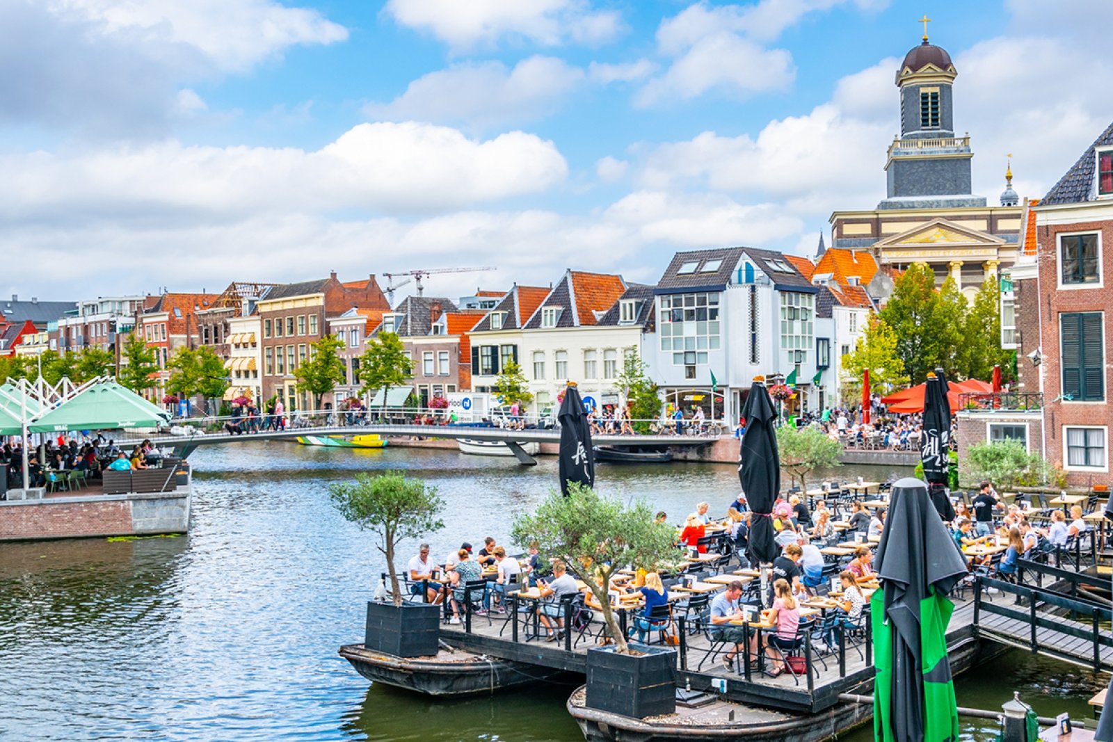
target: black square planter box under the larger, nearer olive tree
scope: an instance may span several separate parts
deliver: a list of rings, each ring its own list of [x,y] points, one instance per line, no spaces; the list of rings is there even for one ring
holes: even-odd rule
[[[633,643],[630,649],[641,654],[618,654],[613,646],[588,650],[588,708],[632,719],[673,713],[676,651]]]

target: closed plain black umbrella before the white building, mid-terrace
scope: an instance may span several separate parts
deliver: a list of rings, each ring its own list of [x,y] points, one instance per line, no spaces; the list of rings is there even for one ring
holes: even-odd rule
[[[774,541],[772,505],[780,492],[780,455],[777,453],[777,412],[765,384],[754,382],[742,406],[746,435],[738,451],[738,478],[750,506],[750,542],[746,550],[752,564],[777,558],[780,550]]]

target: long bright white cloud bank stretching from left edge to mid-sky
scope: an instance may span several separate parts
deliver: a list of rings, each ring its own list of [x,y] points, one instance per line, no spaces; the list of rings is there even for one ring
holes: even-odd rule
[[[430,212],[562,182],[556,147],[513,131],[485,141],[422,123],[363,123],[317,151],[176,142],[0,157],[0,227],[102,218],[220,221],[258,211]]]

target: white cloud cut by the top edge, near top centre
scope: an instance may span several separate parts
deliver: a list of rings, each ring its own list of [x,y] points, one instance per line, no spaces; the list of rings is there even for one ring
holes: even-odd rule
[[[493,46],[503,37],[548,47],[595,44],[622,30],[617,12],[593,10],[585,0],[390,0],[383,12],[455,50]]]

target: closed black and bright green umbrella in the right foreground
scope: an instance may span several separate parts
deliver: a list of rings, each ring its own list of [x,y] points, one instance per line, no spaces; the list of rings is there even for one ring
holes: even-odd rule
[[[946,637],[954,604],[947,593],[966,575],[966,561],[919,479],[893,485],[875,564],[881,586],[869,601],[877,671],[874,739],[957,740]]]

